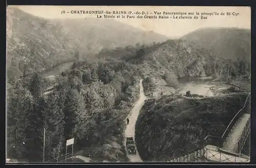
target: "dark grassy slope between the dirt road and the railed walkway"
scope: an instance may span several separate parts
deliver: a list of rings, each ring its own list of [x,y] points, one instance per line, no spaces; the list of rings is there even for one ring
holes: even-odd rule
[[[200,148],[206,135],[221,136],[243,106],[245,94],[202,100],[164,96],[147,101],[136,124],[136,143],[147,161],[166,161]]]

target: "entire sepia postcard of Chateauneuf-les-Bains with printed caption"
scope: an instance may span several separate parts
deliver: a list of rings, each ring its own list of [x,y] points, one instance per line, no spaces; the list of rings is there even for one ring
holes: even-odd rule
[[[250,7],[6,13],[6,164],[250,162]]]

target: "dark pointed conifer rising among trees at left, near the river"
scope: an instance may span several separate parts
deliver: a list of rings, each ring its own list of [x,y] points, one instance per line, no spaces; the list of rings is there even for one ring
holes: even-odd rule
[[[39,98],[41,95],[41,81],[42,79],[37,72],[33,74],[32,79],[30,80],[29,90],[35,99]]]

